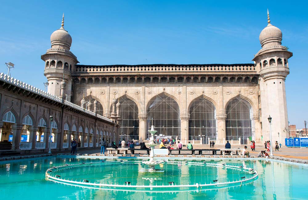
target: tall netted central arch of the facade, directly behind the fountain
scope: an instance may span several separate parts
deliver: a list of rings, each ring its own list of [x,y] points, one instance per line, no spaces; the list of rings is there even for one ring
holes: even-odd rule
[[[163,134],[168,138],[179,138],[180,139],[180,108],[177,102],[162,93],[152,98],[147,106],[147,128],[152,125],[157,130],[157,135]],[[147,133],[147,137],[148,133]]]

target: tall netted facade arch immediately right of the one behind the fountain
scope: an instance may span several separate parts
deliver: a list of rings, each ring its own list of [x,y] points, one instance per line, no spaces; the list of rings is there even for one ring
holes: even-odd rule
[[[216,110],[208,99],[198,97],[189,107],[189,140],[217,139]],[[204,137],[205,136],[205,137]]]

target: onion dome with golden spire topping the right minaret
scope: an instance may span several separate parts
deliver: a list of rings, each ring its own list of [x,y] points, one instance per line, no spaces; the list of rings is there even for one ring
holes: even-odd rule
[[[279,28],[273,26],[270,23],[270,14],[268,9],[267,9],[267,20],[268,20],[267,21],[268,25],[261,31],[259,36],[262,48],[281,45],[282,32]]]

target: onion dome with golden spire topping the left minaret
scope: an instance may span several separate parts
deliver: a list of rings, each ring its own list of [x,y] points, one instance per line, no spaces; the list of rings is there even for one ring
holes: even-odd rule
[[[51,47],[58,47],[70,50],[72,44],[71,35],[64,29],[64,13],[62,17],[61,27],[54,31],[50,36]]]

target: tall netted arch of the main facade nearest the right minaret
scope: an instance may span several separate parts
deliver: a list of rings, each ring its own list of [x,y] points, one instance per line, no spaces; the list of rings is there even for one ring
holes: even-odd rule
[[[241,144],[252,137],[252,107],[249,102],[241,97],[231,99],[226,107],[226,140],[241,138]]]

